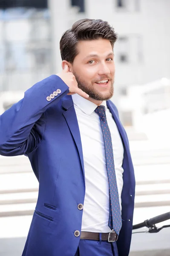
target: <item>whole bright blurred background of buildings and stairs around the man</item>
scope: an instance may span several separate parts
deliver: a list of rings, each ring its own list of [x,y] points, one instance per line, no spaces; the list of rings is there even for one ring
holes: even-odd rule
[[[82,18],[118,33],[112,101],[130,140],[137,224],[170,211],[170,0],[0,0],[0,114],[61,71],[61,35]],[[0,256],[21,256],[37,193],[29,160],[0,156]],[[133,234],[130,256],[149,255],[170,256],[170,228]]]

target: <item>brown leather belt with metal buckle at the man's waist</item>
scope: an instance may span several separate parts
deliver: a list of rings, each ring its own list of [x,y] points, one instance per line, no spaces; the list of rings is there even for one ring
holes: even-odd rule
[[[89,240],[100,240],[99,233],[95,232],[81,232],[80,239],[89,239]],[[108,242],[115,242],[118,240],[118,235],[115,231],[111,231],[110,233],[101,233],[101,240]]]

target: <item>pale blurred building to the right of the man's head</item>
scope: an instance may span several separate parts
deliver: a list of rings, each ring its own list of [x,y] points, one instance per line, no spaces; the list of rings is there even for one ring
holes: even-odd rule
[[[115,97],[127,96],[132,84],[147,84],[170,78],[170,1],[86,0],[86,16],[101,18],[115,28]],[[124,125],[131,124],[131,112],[122,109]],[[128,118],[129,117],[129,118]]]

